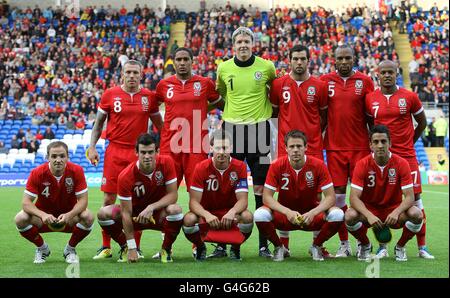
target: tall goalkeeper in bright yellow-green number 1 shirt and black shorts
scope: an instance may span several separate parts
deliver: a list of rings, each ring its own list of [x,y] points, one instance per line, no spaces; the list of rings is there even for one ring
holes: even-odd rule
[[[222,128],[233,138],[231,157],[246,161],[253,178],[256,208],[262,206],[264,181],[270,165],[272,105],[268,88],[275,79],[271,61],[252,53],[255,37],[246,27],[232,34],[235,56],[217,69],[217,90],[225,100]],[[218,247],[213,256],[225,256]],[[259,236],[259,255],[271,257],[267,239]]]

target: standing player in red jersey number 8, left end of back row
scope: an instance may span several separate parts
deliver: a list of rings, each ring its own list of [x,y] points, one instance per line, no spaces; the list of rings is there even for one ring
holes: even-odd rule
[[[104,193],[103,206],[112,205],[116,201],[117,178],[130,161],[136,160],[134,150],[136,139],[141,133],[148,131],[149,117],[159,131],[162,128],[162,118],[156,104],[155,93],[141,87],[142,76],[141,63],[128,60],[122,68],[122,85],[106,90],[98,106],[87,154],[91,163],[98,163],[99,154],[95,145],[100,138],[103,124],[107,120],[106,138],[109,140],[109,145],[105,151],[101,185]],[[141,235],[137,233],[138,249],[140,237]],[[102,247],[94,259],[112,256],[111,238],[104,232],[102,232],[102,238]]]

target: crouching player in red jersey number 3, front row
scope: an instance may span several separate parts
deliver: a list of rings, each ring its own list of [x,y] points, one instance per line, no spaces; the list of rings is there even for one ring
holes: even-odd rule
[[[406,261],[405,244],[422,228],[423,215],[414,206],[414,190],[408,162],[389,151],[391,138],[384,125],[376,125],[370,132],[372,154],[356,163],[352,177],[350,204],[345,212],[348,231],[361,243],[358,260],[370,259],[372,245],[367,229],[381,231],[399,229],[403,233],[395,246],[395,259]],[[405,196],[402,199],[402,195]],[[387,251],[377,254],[387,257]]]

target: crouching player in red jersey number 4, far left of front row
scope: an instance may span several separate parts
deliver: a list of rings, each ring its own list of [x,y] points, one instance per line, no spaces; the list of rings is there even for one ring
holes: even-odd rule
[[[87,209],[83,168],[68,161],[69,150],[60,141],[47,146],[47,159],[31,171],[15,223],[20,234],[37,246],[34,263],[44,263],[50,255],[40,235],[46,232],[72,233],[63,256],[67,263],[78,263],[75,247],[90,233],[94,221]]]

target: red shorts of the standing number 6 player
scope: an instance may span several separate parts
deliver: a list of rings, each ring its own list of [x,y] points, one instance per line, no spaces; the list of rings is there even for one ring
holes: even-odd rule
[[[189,191],[191,186],[191,177],[194,173],[195,166],[208,158],[207,154],[204,153],[161,153],[161,155],[170,155],[175,164],[175,171],[177,172],[177,183],[180,186],[181,181],[186,183],[186,189]]]

